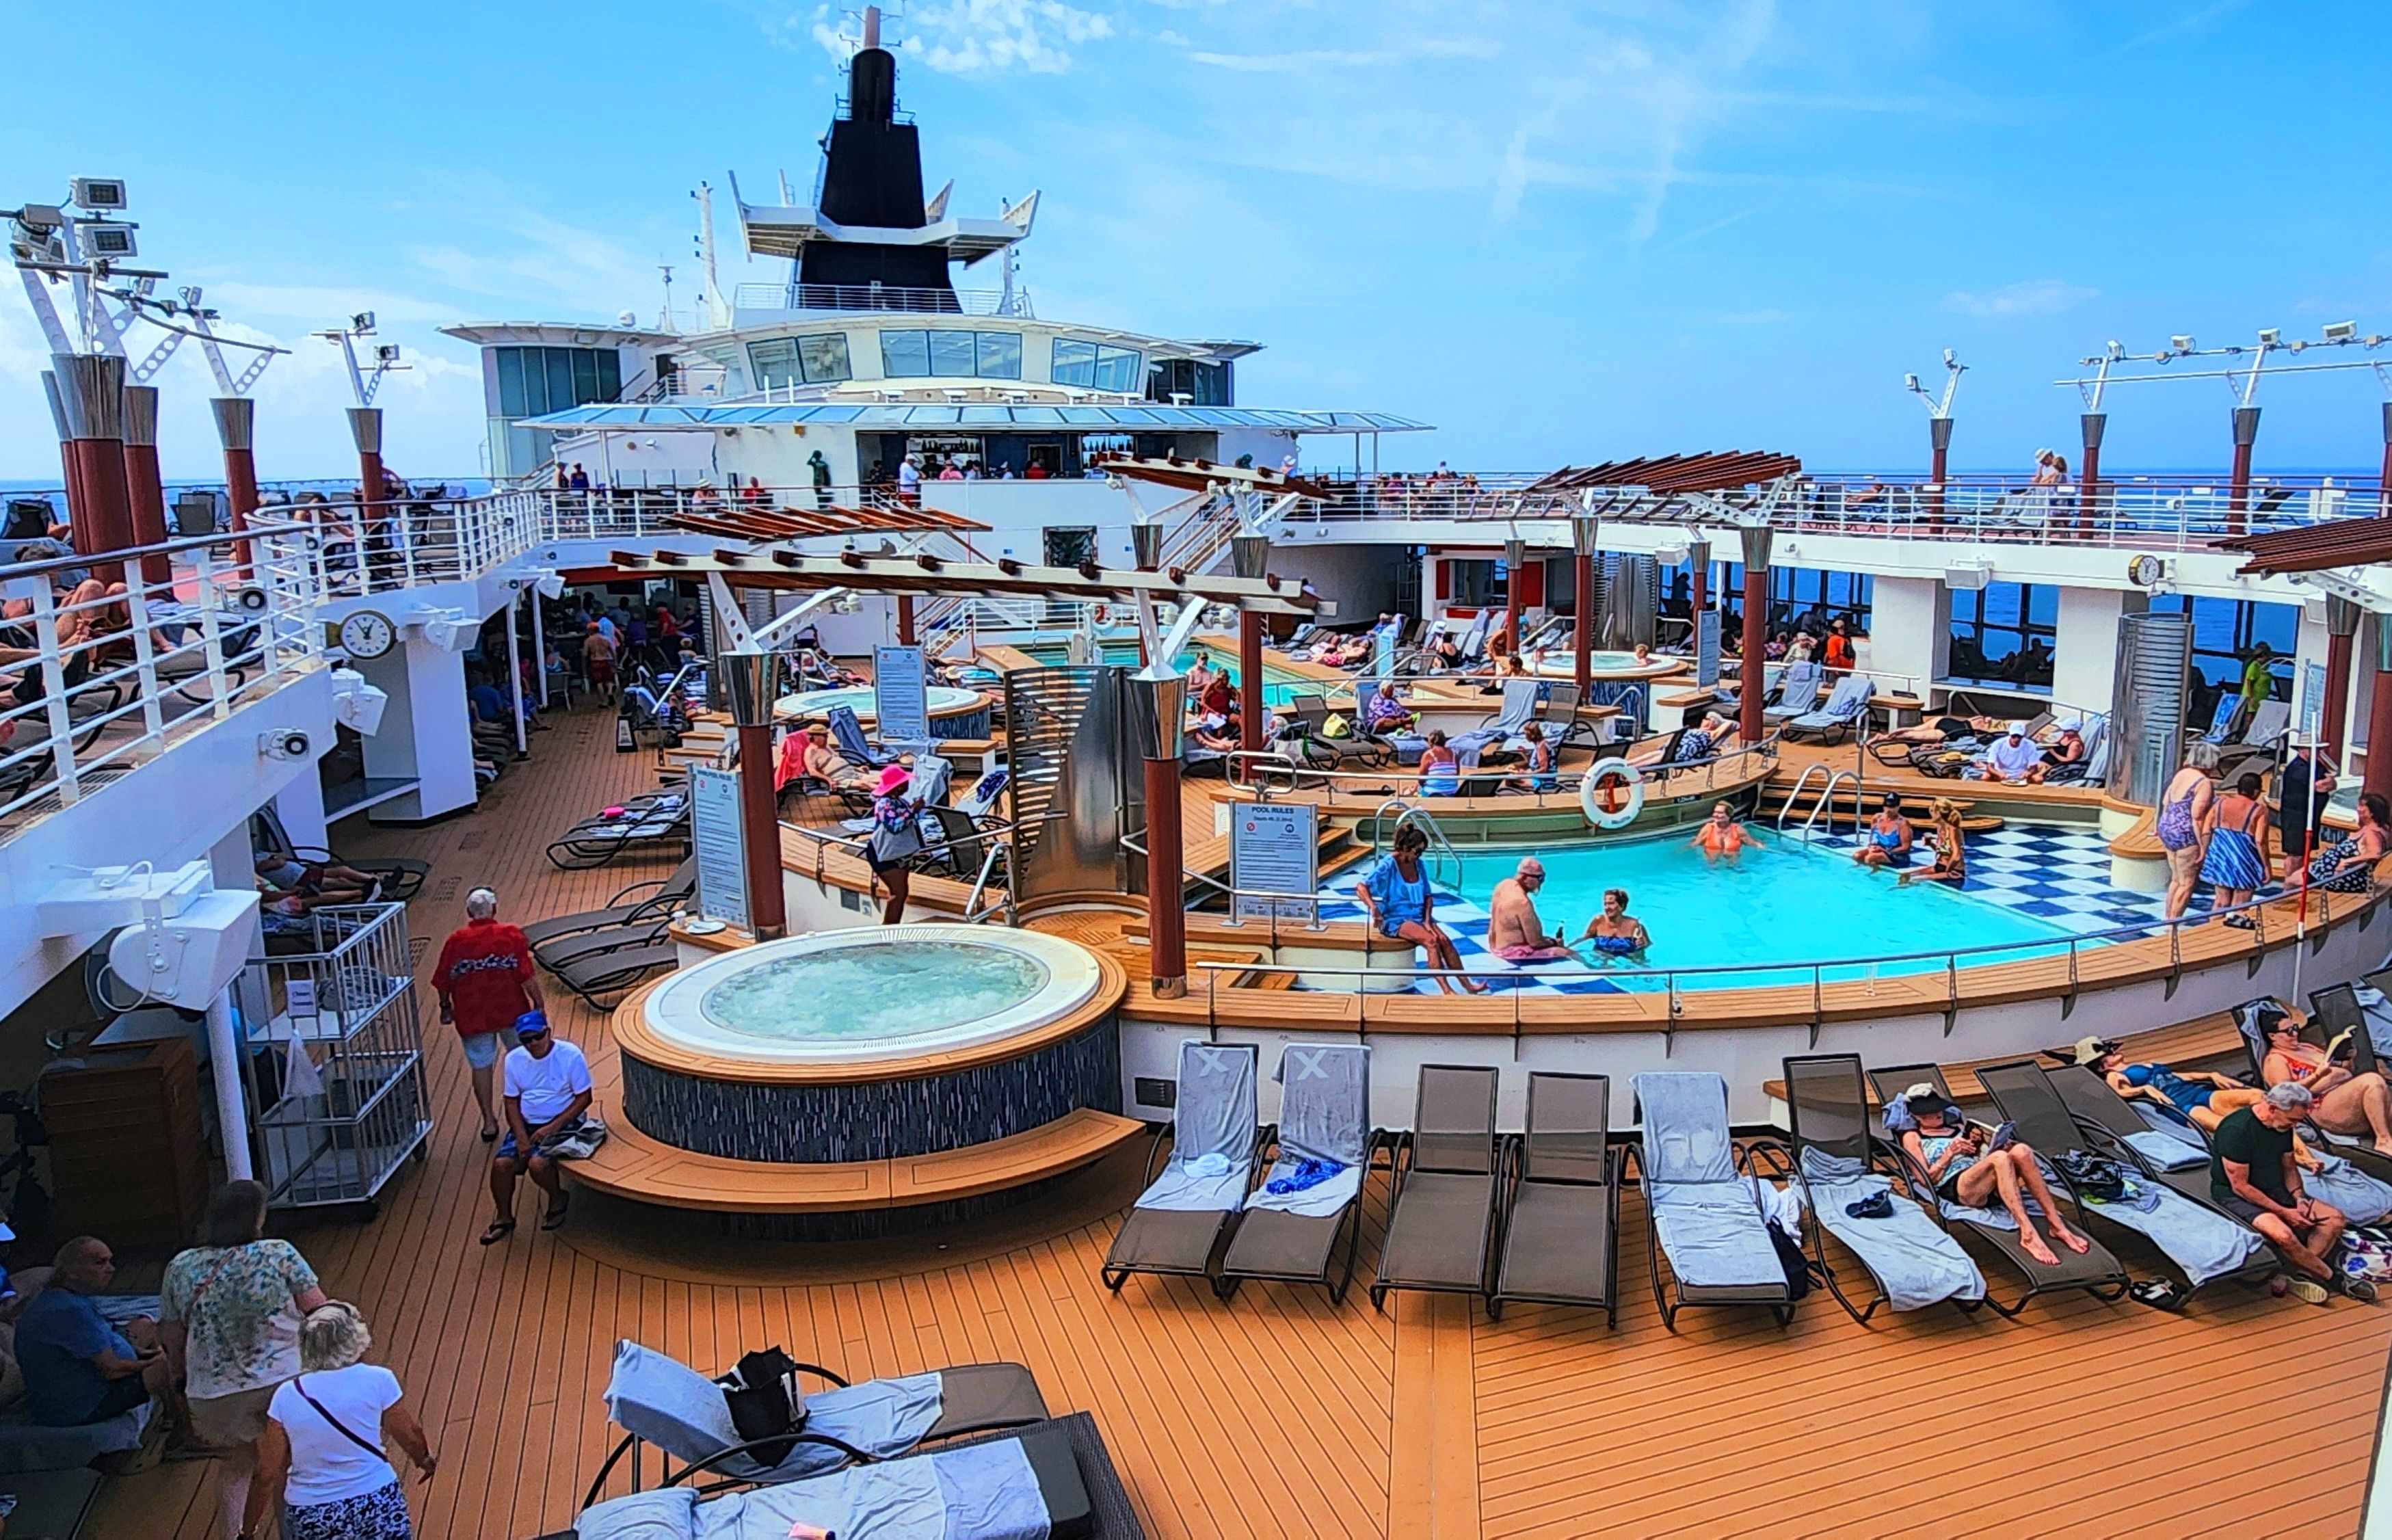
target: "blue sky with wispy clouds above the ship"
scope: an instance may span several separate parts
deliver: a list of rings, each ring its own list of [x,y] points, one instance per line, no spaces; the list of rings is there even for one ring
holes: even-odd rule
[[[392,462],[471,473],[478,366],[433,325],[653,316],[660,261],[687,299],[689,189],[804,194],[854,31],[765,0],[110,14],[108,110],[14,115],[0,203],[122,175],[144,256],[297,349],[258,390],[266,476],[354,464],[306,337],[354,308],[416,366]],[[1438,423],[1387,464],[1914,466],[1902,375],[1954,347],[1954,464],[2019,469],[2074,452],[2050,383],[2110,337],[2392,332],[2380,5],[916,0],[885,33],[933,189],[1045,191],[1043,316],[1251,337],[1249,404]],[[12,36],[91,48],[62,7]],[[0,476],[55,476],[41,352],[0,297]],[[167,471],[210,473],[203,366],[160,385]],[[2373,469],[2380,399],[2263,385],[2260,469]],[[2107,464],[2225,464],[2225,385],[2110,407]]]

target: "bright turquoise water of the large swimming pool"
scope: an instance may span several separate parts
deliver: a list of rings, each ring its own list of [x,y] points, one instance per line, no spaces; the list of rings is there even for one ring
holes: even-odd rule
[[[1689,847],[1691,837],[1689,830],[1629,844],[1464,851],[1462,894],[1485,909],[1495,882],[1509,878],[1521,856],[1533,854],[1545,863],[1545,887],[1536,894],[1536,909],[1548,930],[1562,930],[1572,940],[1603,911],[1605,887],[1629,890],[1629,913],[1653,933],[1653,947],[1641,959],[1612,959],[1605,966],[1631,971],[1756,964],[1751,973],[1682,980],[1682,988],[1796,983],[1794,971],[1758,964],[2055,942],[1981,959],[2024,961],[2067,949],[2069,933],[2057,925],[1966,892],[1949,892],[1938,882],[1897,887],[1890,873],[1868,870],[1842,849],[1806,849],[1765,837],[1765,851],[1746,851],[1737,863],[1715,866]],[[1921,959],[1875,964],[1875,971],[1918,973],[1940,966],[1940,959]],[[1961,966],[1969,966],[1969,959],[1961,959]],[[1868,966],[1849,966],[1827,968],[1825,978],[1868,973]],[[1808,971],[1801,971],[1799,980],[1808,980]],[[1660,978],[1619,983],[1665,988]]]

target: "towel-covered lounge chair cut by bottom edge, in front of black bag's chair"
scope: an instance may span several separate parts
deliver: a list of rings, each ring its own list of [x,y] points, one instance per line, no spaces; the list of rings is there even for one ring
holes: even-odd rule
[[[541,1540],[730,1540],[840,1533],[856,1540],[1146,1540],[1096,1418],[981,1432],[885,1463],[701,1497],[687,1485],[586,1507],[576,1528]]]

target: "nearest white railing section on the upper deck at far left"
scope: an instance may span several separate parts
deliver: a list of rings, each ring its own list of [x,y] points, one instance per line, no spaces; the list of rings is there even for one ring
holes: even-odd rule
[[[313,600],[203,536],[0,567],[0,839],[321,667]]]

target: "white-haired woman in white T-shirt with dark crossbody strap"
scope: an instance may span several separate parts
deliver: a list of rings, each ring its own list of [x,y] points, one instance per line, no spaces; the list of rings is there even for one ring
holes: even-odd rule
[[[266,1411],[258,1478],[242,1540],[282,1509],[282,1540],[409,1540],[407,1495],[388,1442],[433,1478],[440,1466],[423,1423],[399,1399],[399,1377],[366,1363],[373,1332],[356,1306],[332,1301],[299,1325],[299,1377]]]

